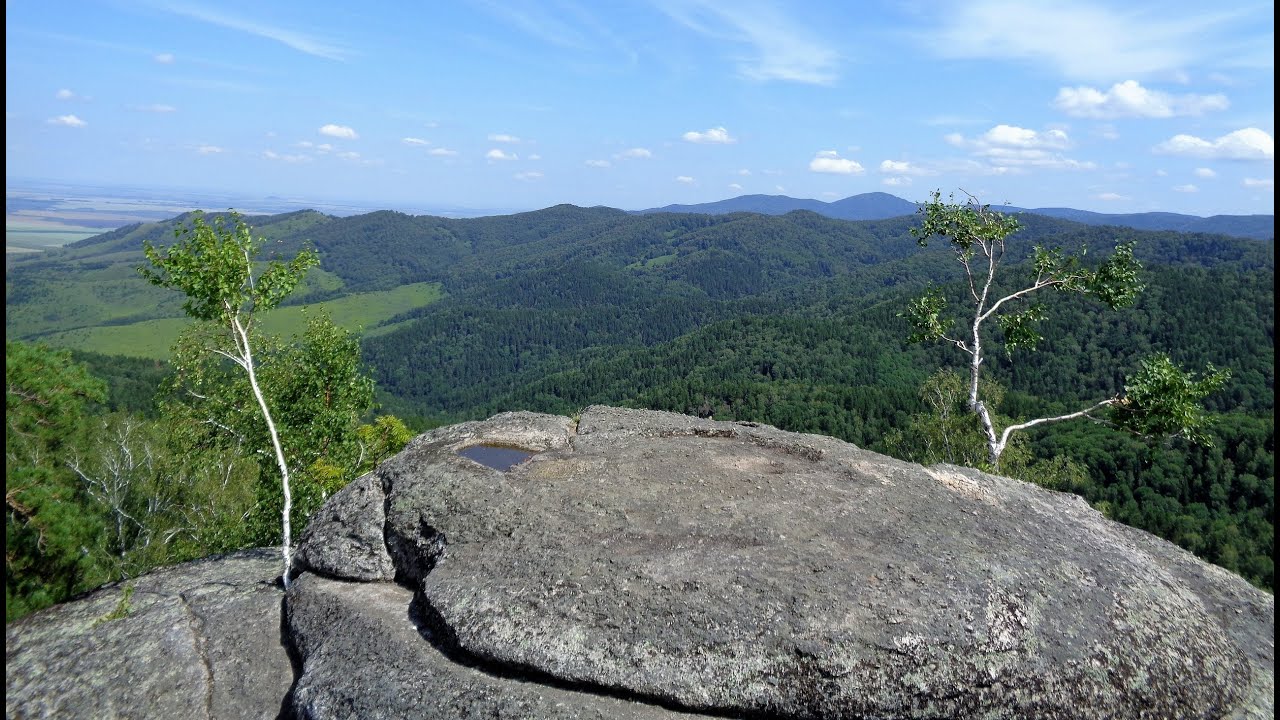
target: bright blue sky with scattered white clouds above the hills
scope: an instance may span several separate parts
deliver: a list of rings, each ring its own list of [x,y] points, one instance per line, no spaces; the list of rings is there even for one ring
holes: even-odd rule
[[[5,174],[404,208],[1272,214],[1274,3],[5,5]]]

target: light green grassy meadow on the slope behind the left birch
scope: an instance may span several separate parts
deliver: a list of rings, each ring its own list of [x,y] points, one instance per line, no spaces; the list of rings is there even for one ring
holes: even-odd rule
[[[413,283],[381,292],[361,292],[314,306],[279,307],[262,316],[261,328],[271,334],[301,334],[306,329],[307,313],[314,313],[315,307],[325,307],[333,322],[348,331],[380,334],[379,331],[388,332],[390,328],[379,327],[379,323],[430,305],[442,296],[439,283]],[[164,360],[169,357],[170,347],[189,322],[187,318],[159,318],[64,331],[40,340],[55,347]]]

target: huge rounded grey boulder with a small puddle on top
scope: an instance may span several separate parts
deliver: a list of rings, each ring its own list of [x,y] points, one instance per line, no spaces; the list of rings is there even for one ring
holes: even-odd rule
[[[296,566],[302,717],[1274,716],[1275,603],[1243,579],[1070,495],[749,423],[433,430],[334,496]],[[10,628],[26,662],[59,612]]]

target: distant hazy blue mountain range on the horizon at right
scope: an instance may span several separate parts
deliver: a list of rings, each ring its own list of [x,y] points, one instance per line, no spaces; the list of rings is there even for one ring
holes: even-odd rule
[[[701,213],[722,215],[726,213],[759,213],[762,215],[785,215],[792,210],[809,210],[840,220],[882,220],[915,213],[916,204],[902,200],[887,192],[864,192],[844,200],[823,202],[786,195],[742,195],[716,202],[699,205],[667,205],[637,210],[648,213]],[[1032,213],[1050,218],[1061,218],[1087,225],[1115,225],[1142,231],[1175,231],[1228,234],[1271,240],[1275,237],[1275,215],[1183,215],[1179,213],[1126,213],[1107,214],[1073,208],[1016,208],[1000,205],[995,209],[1005,213]]]

